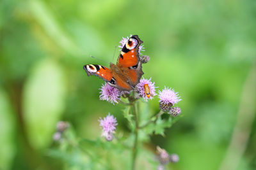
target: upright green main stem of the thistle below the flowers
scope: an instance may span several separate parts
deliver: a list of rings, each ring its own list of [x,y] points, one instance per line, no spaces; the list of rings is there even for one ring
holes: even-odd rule
[[[133,144],[133,148],[132,148],[132,169],[135,169],[136,167],[136,158],[137,158],[137,146],[138,146],[138,129],[139,129],[139,120],[138,120],[138,113],[136,111],[136,106],[135,103],[131,103],[131,109],[132,109],[132,113],[134,115],[134,120],[135,120],[135,139],[134,139],[134,144]]]

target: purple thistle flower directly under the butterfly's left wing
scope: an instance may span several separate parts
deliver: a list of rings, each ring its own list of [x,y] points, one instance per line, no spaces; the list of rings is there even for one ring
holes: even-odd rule
[[[115,104],[118,103],[118,100],[120,100],[120,91],[108,83],[105,83],[105,85],[102,84],[100,90],[101,101],[108,101]]]

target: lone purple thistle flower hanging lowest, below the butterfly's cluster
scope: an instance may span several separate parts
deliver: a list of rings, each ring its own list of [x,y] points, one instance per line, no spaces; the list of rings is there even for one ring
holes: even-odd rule
[[[102,127],[102,136],[104,136],[108,141],[111,141],[113,139],[113,132],[116,130],[116,118],[108,113],[108,116],[103,119],[100,118],[99,122]]]

